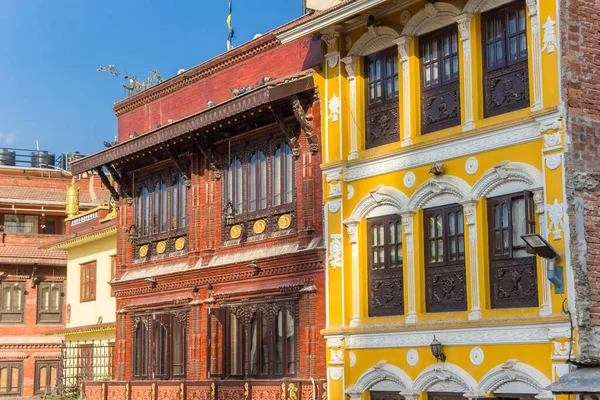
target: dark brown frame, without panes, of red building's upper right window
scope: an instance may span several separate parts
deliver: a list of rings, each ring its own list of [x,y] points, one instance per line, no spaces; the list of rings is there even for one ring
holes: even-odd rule
[[[226,208],[227,208],[227,204],[228,202],[231,200],[232,205],[234,206],[234,215],[233,215],[233,221],[232,224],[239,224],[241,222],[245,222],[251,219],[257,219],[257,218],[263,218],[263,217],[267,217],[269,215],[274,215],[274,214],[279,214],[279,213],[285,213],[285,212],[290,212],[293,211],[296,207],[296,157],[293,156],[292,152],[292,148],[291,146],[287,143],[285,137],[282,134],[278,134],[277,131],[273,131],[272,136],[270,139],[268,140],[262,140],[262,141],[253,141],[253,142],[249,142],[246,145],[231,145],[231,148],[228,149],[228,153],[229,153],[229,164],[230,167],[228,168],[228,170],[225,173],[225,177],[223,179],[223,190],[222,190],[222,209],[223,211],[223,222],[225,223],[225,212],[226,212]],[[284,170],[284,167],[288,167],[287,163],[285,161],[286,159],[286,147],[289,149],[289,154],[291,155],[291,160],[292,160],[292,165],[291,165],[291,176],[292,176],[292,184],[291,184],[291,190],[292,190],[292,198],[290,202],[285,202],[285,189],[287,187],[287,170]],[[279,205],[274,205],[274,183],[275,183],[275,179],[274,179],[274,172],[275,172],[275,153],[277,151],[277,149],[280,148],[281,149],[281,156],[280,156],[280,162],[281,162],[281,177],[280,177],[280,188],[281,188],[281,204]],[[266,161],[267,161],[267,205],[265,208],[260,209],[258,207],[258,203],[259,203],[259,193],[260,193],[260,185],[257,184],[256,186],[256,193],[257,193],[257,208],[255,211],[249,211],[249,168],[250,168],[250,159],[254,154],[258,154],[259,151],[262,151]],[[228,193],[228,184],[229,184],[229,179],[231,179],[229,177],[229,172],[231,171],[231,166],[234,165],[234,163],[237,161],[240,162],[241,166],[242,166],[242,201],[240,202],[239,199],[236,198],[237,196],[237,190],[235,190],[235,186],[232,186],[234,188],[233,192],[234,194],[232,194],[233,197],[229,197],[229,193]],[[257,166],[257,170],[258,170],[258,166]],[[236,174],[234,174],[233,172],[231,173],[231,176],[235,177]],[[237,177],[234,178],[233,184],[235,185],[237,183]],[[257,174],[257,183],[260,181],[259,175]],[[236,207],[236,204],[242,204],[242,210],[239,210]]]

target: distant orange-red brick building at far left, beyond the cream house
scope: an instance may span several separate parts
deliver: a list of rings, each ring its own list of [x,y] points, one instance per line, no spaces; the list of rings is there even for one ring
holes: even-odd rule
[[[28,397],[57,383],[62,338],[45,333],[65,325],[67,258],[40,246],[65,233],[71,180],[48,168],[0,167],[0,397]],[[108,198],[97,177],[80,186],[82,210]]]

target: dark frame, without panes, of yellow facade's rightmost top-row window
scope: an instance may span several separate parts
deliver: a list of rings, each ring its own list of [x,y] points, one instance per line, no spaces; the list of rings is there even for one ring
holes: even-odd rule
[[[525,26],[519,29],[513,35],[517,37],[517,58],[509,59],[510,34],[508,33],[508,17],[511,12],[523,11]],[[502,23],[502,37],[489,40],[488,22],[497,19]],[[518,22],[516,22],[518,25]],[[518,37],[525,37],[525,55],[521,56]],[[488,45],[501,42],[502,62],[495,62],[488,66]],[[481,48],[482,48],[482,67],[483,67],[483,95],[484,95],[484,117],[489,118],[501,115],[507,112],[516,111],[530,106],[529,94],[529,65],[528,65],[528,46],[527,42],[527,9],[524,0],[517,0],[508,5],[486,11],[481,15]],[[515,80],[520,80],[523,85],[521,92],[517,93]],[[495,92],[499,92],[495,95]],[[503,96],[501,96],[503,94]],[[499,96],[499,97],[498,97]]]

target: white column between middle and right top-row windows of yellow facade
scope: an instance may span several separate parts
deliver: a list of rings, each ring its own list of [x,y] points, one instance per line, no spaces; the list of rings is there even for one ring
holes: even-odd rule
[[[473,118],[473,61],[471,59],[471,19],[473,14],[464,13],[456,18],[458,30],[460,31],[460,40],[463,45],[462,68],[464,71],[461,77],[464,90],[465,123],[463,124],[463,132],[475,129],[475,120]]]

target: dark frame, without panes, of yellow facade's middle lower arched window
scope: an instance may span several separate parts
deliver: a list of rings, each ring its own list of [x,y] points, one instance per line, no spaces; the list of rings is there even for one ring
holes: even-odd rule
[[[460,204],[449,204],[441,207],[428,208],[424,211],[424,247],[425,247],[425,286],[426,286],[426,309],[428,313],[454,312],[467,310],[467,285],[466,285],[466,262],[464,253],[464,211]],[[450,215],[455,213],[455,233],[451,234],[449,229]],[[459,215],[462,224],[458,223]],[[430,217],[441,217],[442,231],[434,230],[434,237],[430,236]],[[436,225],[437,226],[437,225]],[[456,240],[456,252],[451,253],[449,242]],[[460,240],[462,239],[463,251],[460,252]],[[438,254],[438,242],[442,242],[442,260],[431,261],[431,240],[435,241],[436,256]],[[456,254],[454,260],[449,255]],[[440,282],[441,281],[441,282]],[[437,295],[436,286],[440,284],[442,297]],[[449,285],[452,285],[451,287]],[[457,288],[456,291],[454,288]],[[447,290],[450,291],[447,291]],[[446,297],[446,295],[450,297]],[[453,299],[454,298],[454,299]],[[449,300],[444,302],[444,300]]]

